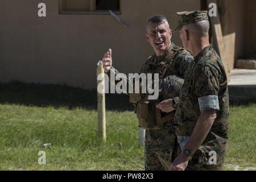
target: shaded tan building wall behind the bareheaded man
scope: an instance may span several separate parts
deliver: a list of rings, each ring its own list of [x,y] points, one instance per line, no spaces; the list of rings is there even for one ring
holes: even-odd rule
[[[47,17],[38,17],[46,3]],[[163,14],[171,28],[176,11],[199,10],[200,0],[121,0],[128,28],[113,16],[59,14],[57,0],[0,1],[0,82],[19,80],[96,88],[96,64],[108,48],[113,65],[123,73],[138,72],[153,52],[145,38],[145,22]],[[173,42],[181,44],[177,32]]]

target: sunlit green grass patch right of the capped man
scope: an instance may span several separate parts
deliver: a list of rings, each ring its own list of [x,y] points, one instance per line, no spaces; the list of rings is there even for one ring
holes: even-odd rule
[[[256,170],[256,104],[230,107],[226,163]]]

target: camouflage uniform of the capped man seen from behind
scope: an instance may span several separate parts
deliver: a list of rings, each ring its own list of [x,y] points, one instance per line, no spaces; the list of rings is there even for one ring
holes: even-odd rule
[[[212,46],[205,47],[189,65],[180,92],[174,127],[183,142],[186,137],[191,137],[200,116],[200,108],[216,109],[217,118],[207,138],[192,156],[187,169],[219,170],[224,162],[228,139],[229,96],[224,66]],[[182,141],[180,146],[185,145]],[[209,164],[210,151],[217,153],[217,164]]]

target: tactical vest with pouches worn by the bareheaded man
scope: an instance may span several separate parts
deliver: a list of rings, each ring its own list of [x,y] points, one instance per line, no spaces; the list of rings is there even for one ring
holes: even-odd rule
[[[146,61],[146,68],[143,73],[159,73],[159,86],[162,83],[167,69],[171,69],[172,63],[176,59],[176,56],[179,55],[180,51],[184,49],[178,46],[173,46],[168,50],[166,55],[159,60],[157,64],[154,63],[154,59],[156,59],[156,55],[152,55]],[[162,113],[158,108],[156,108],[156,104],[158,102],[148,100],[147,94],[138,94],[133,93],[130,94],[130,102],[135,103],[135,114],[137,114],[137,118],[139,119],[139,127],[143,129],[156,130],[163,127],[163,124],[167,121],[171,121],[174,118],[175,111],[171,113]]]

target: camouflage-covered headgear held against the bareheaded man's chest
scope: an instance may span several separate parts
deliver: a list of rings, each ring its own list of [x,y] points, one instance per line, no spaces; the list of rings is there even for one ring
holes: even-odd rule
[[[179,97],[180,89],[184,83],[184,79],[176,75],[170,75],[164,78],[160,84],[160,99],[166,100],[168,98]]]

